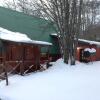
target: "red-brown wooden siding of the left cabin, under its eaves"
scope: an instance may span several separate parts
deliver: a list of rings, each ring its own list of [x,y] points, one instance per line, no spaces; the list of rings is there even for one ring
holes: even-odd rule
[[[0,52],[0,64],[3,63],[5,55],[5,65],[8,72],[24,74],[30,71],[41,70],[41,64],[48,62],[48,55],[42,59],[42,46],[36,44],[25,44],[3,41],[5,51]],[[48,48],[48,46],[45,46]],[[2,49],[2,48],[1,48]],[[2,72],[2,69],[0,68]]]

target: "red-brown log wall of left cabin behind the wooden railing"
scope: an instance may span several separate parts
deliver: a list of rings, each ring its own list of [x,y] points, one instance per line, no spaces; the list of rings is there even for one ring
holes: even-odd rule
[[[5,61],[8,72],[17,66],[16,72],[23,67],[24,71],[32,66],[32,71],[39,70],[36,64],[40,62],[40,48],[38,45],[4,42],[6,46]],[[0,54],[2,57],[2,53]],[[2,60],[1,60],[2,62]]]

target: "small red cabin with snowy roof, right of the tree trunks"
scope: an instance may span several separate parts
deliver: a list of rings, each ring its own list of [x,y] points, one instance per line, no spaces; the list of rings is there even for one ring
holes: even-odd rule
[[[88,50],[85,51],[86,49]],[[95,52],[91,52],[93,49]],[[85,53],[87,53],[87,55]],[[79,39],[77,47],[77,60],[81,62],[100,61],[100,42]]]

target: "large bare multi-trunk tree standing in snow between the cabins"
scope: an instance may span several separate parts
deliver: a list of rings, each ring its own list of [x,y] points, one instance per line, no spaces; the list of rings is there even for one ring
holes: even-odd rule
[[[74,65],[83,0],[39,0],[37,5],[57,26],[64,62]]]

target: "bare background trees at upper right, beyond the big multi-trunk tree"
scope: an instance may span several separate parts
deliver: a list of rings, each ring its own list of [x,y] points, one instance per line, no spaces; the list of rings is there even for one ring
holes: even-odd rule
[[[97,24],[97,16],[100,15],[100,1],[99,0],[86,0],[83,4],[83,19],[82,30],[83,32],[89,27]]]

